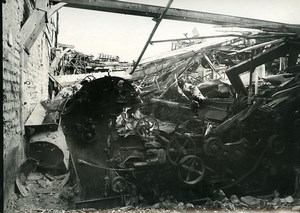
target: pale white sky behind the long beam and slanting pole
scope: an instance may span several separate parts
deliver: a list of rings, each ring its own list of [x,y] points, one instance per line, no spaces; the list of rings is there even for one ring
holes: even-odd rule
[[[125,0],[124,0],[125,1]],[[168,0],[127,0],[166,6]],[[171,8],[197,10],[241,17],[300,24],[300,0],[174,0]],[[122,61],[137,60],[155,22],[148,17],[74,9],[59,10],[60,43],[75,45],[85,54],[118,55]],[[192,36],[196,27],[200,35],[212,34],[212,25],[162,20],[152,40]],[[171,43],[149,45],[144,57],[168,51]]]

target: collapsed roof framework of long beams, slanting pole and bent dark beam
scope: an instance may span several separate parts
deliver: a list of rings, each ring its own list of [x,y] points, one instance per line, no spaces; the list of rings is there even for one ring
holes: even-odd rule
[[[187,21],[187,22],[196,22],[196,23],[204,23],[204,24],[213,24],[219,25],[222,27],[241,27],[247,29],[255,29],[259,30],[258,33],[255,34],[225,34],[225,35],[212,35],[205,37],[196,37],[196,38],[181,38],[175,41],[184,41],[190,39],[211,39],[212,43],[210,44],[196,44],[191,47],[183,48],[174,51],[170,55],[164,54],[161,58],[152,59],[153,61],[150,64],[155,64],[155,72],[159,72],[157,67],[159,66],[158,60],[163,59],[160,62],[163,62],[163,67],[166,65],[170,65],[170,62],[174,62],[178,59],[186,59],[191,56],[194,57],[195,53],[201,52],[201,56],[209,59],[206,56],[207,52],[210,52],[214,49],[224,50],[228,48],[228,45],[232,43],[240,42],[240,41],[250,41],[255,39],[255,44],[248,44],[243,46],[242,48],[235,48],[235,50],[229,50],[226,52],[227,57],[231,57],[234,55],[247,55],[248,57],[244,57],[246,60],[239,60],[238,64],[232,64],[234,66],[228,67],[225,71],[228,79],[231,81],[237,93],[246,94],[247,91],[245,86],[240,78],[240,74],[255,69],[255,67],[264,64],[266,62],[271,62],[275,58],[280,58],[282,56],[288,56],[288,64],[289,66],[296,63],[298,54],[299,54],[299,34],[300,34],[300,25],[295,24],[286,24],[280,22],[273,21],[264,21],[252,18],[243,18],[237,16],[230,15],[222,15],[215,13],[207,13],[200,11],[192,11],[192,10],[184,10],[179,8],[172,8],[172,0],[168,2],[166,7],[147,5],[147,4],[138,4],[138,3],[130,3],[125,1],[107,1],[107,0],[95,0],[95,1],[80,1],[80,0],[50,0],[50,2],[54,5],[63,5],[65,7],[72,8],[80,8],[80,9],[89,9],[103,12],[112,12],[112,13],[120,13],[127,15],[136,15],[136,16],[144,16],[144,17],[152,17],[156,22],[156,25],[149,36],[145,47],[139,56],[135,67],[132,70],[132,73],[137,69],[141,70],[138,67],[140,60],[142,59],[143,53],[145,52],[147,45],[149,43],[158,43],[158,42],[170,42],[174,40],[166,39],[161,41],[152,41],[152,36],[155,33],[160,21],[162,19],[176,20],[176,21]],[[251,32],[251,31],[250,31]],[[221,39],[221,40],[218,40]],[[216,42],[214,42],[216,41]],[[220,42],[217,42],[220,41]],[[227,42],[227,43],[226,43]],[[224,45],[225,44],[225,45]],[[224,51],[222,51],[224,53]],[[199,54],[197,54],[199,56]],[[169,61],[173,56],[173,61]],[[145,62],[147,60],[142,61],[143,69],[145,68]],[[208,62],[210,65],[210,62]],[[149,61],[146,63],[149,67]],[[210,66],[211,67],[211,66]],[[211,67],[212,70],[215,71],[215,68]],[[143,70],[144,74],[147,72],[152,72],[147,68]],[[149,73],[148,73],[149,74]],[[153,74],[153,73],[152,73]],[[136,76],[134,74],[134,76]],[[143,76],[143,75],[141,75]]]

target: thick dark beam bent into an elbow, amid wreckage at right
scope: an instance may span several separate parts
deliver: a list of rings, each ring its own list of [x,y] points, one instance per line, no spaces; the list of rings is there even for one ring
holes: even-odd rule
[[[275,58],[285,56],[287,51],[288,51],[287,45],[280,44],[278,46],[272,47],[269,50],[254,56],[252,62],[251,59],[248,59],[226,70],[226,75],[230,80],[235,91],[237,93],[247,95],[247,91],[239,75],[246,71],[249,71],[250,63],[252,63],[253,67],[257,67],[268,61],[272,61]]]

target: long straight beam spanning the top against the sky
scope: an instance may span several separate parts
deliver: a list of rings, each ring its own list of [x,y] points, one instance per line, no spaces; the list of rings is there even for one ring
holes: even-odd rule
[[[50,0],[53,3],[65,2],[67,7],[80,9],[97,10],[112,13],[121,13],[128,15],[146,16],[158,18],[163,12],[164,7],[129,3],[123,1],[107,0]],[[221,15],[215,13],[199,12],[193,10],[184,10],[170,8],[164,16],[164,19],[197,22],[215,25],[243,26],[251,29],[279,30],[282,32],[300,33],[300,25],[285,24],[279,22],[263,21],[258,19],[243,18],[238,16]]]

